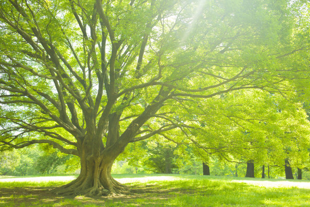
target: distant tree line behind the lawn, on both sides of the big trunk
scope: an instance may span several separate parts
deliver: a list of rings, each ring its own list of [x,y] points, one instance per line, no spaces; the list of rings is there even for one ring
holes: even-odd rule
[[[153,147],[144,146],[145,151],[138,153],[143,155],[139,159],[126,161],[119,160],[114,163],[114,174],[191,174],[231,177],[255,177],[255,178],[286,178],[308,179],[310,171],[308,167],[302,169],[291,167],[289,159],[281,165],[261,165],[253,160],[241,160],[239,162],[227,162],[218,157],[212,157],[208,163],[195,156],[192,149],[186,148],[186,155],[181,156],[179,147],[163,145],[154,142]],[[79,171],[78,160],[72,156],[60,155],[50,149],[41,151],[33,147],[24,151],[6,151],[0,154],[1,176],[29,176],[29,175],[62,175],[75,174]]]

